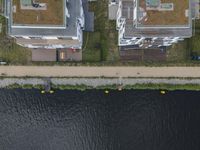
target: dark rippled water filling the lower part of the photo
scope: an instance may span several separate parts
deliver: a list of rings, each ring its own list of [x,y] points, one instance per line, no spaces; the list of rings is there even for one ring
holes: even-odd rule
[[[200,92],[0,90],[0,150],[200,150]]]

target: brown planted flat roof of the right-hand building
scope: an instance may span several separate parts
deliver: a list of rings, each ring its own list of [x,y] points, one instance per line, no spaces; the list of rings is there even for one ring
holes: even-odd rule
[[[189,0],[138,0],[137,25],[188,26]]]

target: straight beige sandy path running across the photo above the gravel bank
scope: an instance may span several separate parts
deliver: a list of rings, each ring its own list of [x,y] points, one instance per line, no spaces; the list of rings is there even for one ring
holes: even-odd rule
[[[200,67],[0,66],[12,77],[200,77]]]

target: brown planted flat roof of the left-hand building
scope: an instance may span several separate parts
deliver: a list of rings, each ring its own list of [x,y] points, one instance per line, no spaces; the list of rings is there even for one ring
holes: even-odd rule
[[[14,25],[65,24],[65,0],[12,0]]]

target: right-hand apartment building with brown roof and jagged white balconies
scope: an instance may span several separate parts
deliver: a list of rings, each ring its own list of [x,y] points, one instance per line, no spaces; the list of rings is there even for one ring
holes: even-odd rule
[[[119,46],[166,47],[193,35],[199,0],[110,0],[109,18]]]

